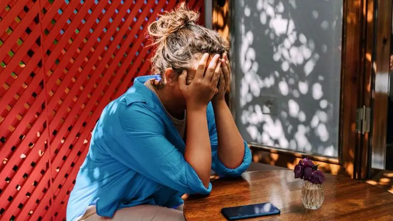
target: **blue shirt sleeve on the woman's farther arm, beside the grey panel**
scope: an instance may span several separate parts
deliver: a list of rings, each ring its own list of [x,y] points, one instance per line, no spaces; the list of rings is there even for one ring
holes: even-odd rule
[[[210,144],[212,146],[212,169],[220,176],[240,176],[251,164],[251,150],[247,142],[243,141],[244,157],[242,164],[233,169],[226,167],[218,157],[217,128],[211,104],[208,106],[207,115],[209,122]]]

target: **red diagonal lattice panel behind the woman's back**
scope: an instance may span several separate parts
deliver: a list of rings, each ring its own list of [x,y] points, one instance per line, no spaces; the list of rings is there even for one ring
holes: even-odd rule
[[[147,25],[176,3],[0,0],[0,220],[65,219],[95,122],[149,74]]]

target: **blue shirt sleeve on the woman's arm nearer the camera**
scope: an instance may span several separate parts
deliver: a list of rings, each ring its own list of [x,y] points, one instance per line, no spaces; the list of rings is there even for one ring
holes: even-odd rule
[[[121,103],[120,105],[124,105]],[[119,106],[120,106],[119,105]],[[209,194],[197,172],[165,137],[164,123],[142,103],[119,107],[121,148],[111,150],[122,164],[182,193]]]

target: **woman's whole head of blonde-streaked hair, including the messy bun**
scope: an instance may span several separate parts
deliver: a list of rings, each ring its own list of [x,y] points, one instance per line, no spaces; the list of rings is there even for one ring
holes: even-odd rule
[[[222,55],[229,50],[228,42],[217,31],[197,25],[198,18],[199,13],[188,9],[182,2],[149,25],[148,33],[154,46],[150,60],[154,74],[163,77],[165,70],[172,68],[180,75],[190,67],[196,55]],[[160,81],[156,86],[162,87],[164,82]]]

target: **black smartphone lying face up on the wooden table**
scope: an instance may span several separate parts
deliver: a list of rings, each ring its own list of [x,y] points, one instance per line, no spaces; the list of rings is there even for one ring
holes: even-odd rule
[[[279,215],[281,211],[272,203],[227,207],[221,209],[227,220],[242,220],[256,217]]]

